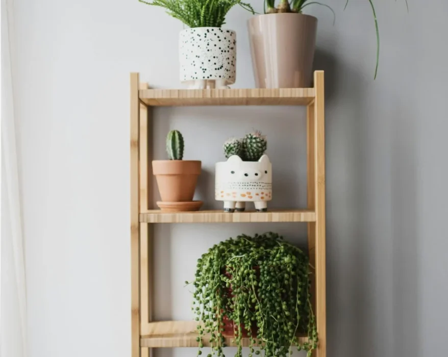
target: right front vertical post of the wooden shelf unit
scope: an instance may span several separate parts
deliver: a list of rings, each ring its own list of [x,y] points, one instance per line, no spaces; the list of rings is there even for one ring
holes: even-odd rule
[[[315,188],[315,277],[317,357],[327,355],[326,247],[325,247],[325,107],[323,71],[314,72],[314,188]]]

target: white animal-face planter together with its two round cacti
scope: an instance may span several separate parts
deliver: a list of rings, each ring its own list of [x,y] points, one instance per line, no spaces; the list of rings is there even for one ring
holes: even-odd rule
[[[224,201],[225,212],[243,212],[254,202],[258,212],[267,211],[272,199],[272,165],[264,152],[266,137],[261,132],[224,143],[227,161],[216,163],[215,199]]]

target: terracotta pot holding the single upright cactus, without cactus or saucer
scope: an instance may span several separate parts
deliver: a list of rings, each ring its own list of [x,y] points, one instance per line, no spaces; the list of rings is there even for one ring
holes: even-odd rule
[[[155,160],[153,173],[162,201],[192,201],[197,176],[201,173],[201,161]]]

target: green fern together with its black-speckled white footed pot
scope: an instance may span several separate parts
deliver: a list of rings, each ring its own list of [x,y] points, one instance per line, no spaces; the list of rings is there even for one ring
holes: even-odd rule
[[[236,78],[236,33],[222,29],[235,6],[250,10],[241,0],[153,0],[139,2],[161,6],[189,29],[179,37],[180,80],[189,88],[228,88]]]

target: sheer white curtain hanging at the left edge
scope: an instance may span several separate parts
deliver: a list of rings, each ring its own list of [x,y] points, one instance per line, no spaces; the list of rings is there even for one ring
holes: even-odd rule
[[[27,294],[13,95],[13,1],[2,0],[2,245],[0,355],[27,355]]]

